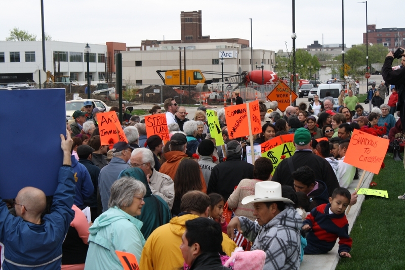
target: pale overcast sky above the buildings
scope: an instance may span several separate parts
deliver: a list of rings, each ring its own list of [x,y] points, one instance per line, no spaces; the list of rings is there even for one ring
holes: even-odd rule
[[[362,43],[366,31],[366,4],[344,2],[345,43]],[[405,28],[396,10],[400,1],[369,0],[368,23],[377,28]],[[0,40],[18,27],[41,38],[41,1],[14,0],[2,3]],[[203,35],[211,38],[251,39],[253,48],[286,50],[292,48],[292,1],[288,0],[204,0],[204,1],[131,1],[131,0],[44,0],[45,32],[53,40],[105,43],[125,42],[140,46],[144,39],[180,39],[180,12],[201,10]],[[342,43],[341,0],[295,1],[297,48],[314,40]]]

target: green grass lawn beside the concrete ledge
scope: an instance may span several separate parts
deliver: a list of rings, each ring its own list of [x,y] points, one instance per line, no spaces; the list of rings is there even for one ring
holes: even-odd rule
[[[384,163],[385,168],[374,175],[377,186],[373,189],[387,190],[389,198],[367,196],[363,201],[350,233],[352,258],[340,259],[337,270],[405,267],[405,201],[398,199],[405,193],[405,170],[392,154],[386,155]]]

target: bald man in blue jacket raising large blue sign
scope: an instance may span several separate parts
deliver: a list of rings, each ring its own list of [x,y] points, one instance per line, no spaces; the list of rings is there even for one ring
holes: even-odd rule
[[[61,134],[63,165],[53,197],[51,213],[41,219],[45,193],[25,187],[17,194],[13,216],[0,198],[0,242],[4,244],[3,269],[60,269],[62,243],[74,217],[74,178],[70,161],[73,141]]]

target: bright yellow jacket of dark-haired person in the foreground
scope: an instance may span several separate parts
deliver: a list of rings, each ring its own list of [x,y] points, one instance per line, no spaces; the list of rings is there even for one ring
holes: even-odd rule
[[[183,268],[184,259],[180,250],[181,237],[186,231],[186,221],[197,217],[194,214],[176,216],[170,220],[170,223],[156,228],[143,247],[140,269],[177,270]],[[222,236],[222,250],[231,256],[236,244],[226,234],[222,233]]]

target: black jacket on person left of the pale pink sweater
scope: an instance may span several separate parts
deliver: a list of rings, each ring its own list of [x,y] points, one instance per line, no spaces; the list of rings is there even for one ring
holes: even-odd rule
[[[227,201],[241,179],[245,178],[253,179],[253,165],[242,161],[238,155],[228,156],[225,162],[213,168],[207,194],[213,192],[221,194]]]

